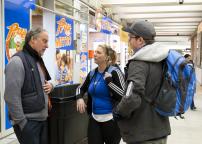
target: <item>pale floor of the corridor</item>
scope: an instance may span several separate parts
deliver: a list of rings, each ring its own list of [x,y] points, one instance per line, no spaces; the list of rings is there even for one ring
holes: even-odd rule
[[[195,103],[197,110],[189,110],[184,115],[185,119],[170,118],[172,134],[168,137],[168,144],[202,144],[202,86],[197,87]],[[18,142],[12,134],[1,139],[0,144],[18,144]]]

